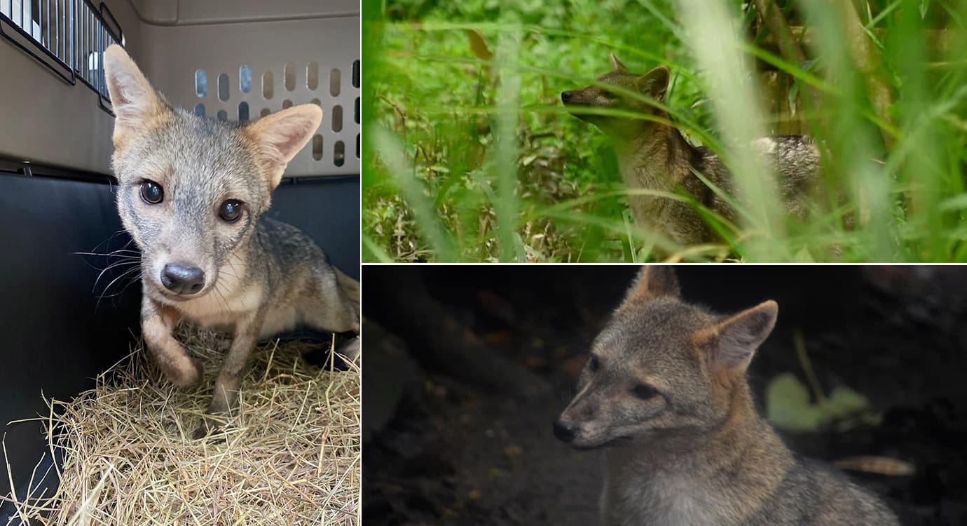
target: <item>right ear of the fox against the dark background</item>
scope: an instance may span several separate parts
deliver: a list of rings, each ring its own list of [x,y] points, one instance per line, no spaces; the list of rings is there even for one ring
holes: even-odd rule
[[[729,376],[745,373],[755,350],[773,331],[778,309],[770,299],[698,331],[693,341],[712,372]]]

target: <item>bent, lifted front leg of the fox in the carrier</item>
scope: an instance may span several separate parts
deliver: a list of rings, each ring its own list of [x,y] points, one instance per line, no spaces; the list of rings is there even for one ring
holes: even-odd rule
[[[141,335],[144,343],[161,367],[164,377],[178,387],[195,387],[201,383],[201,364],[172,336],[181,315],[147,295],[141,300]]]

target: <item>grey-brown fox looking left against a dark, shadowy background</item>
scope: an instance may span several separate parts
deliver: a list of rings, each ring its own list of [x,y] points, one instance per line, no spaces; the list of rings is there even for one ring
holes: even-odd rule
[[[773,300],[715,314],[683,301],[673,268],[640,270],[552,426],[572,448],[603,449],[601,524],[898,524],[756,412],[746,370],[777,314]]]

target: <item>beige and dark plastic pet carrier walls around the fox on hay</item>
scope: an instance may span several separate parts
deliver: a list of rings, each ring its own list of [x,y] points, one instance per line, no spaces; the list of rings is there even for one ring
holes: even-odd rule
[[[173,105],[208,118],[321,106],[323,124],[267,213],[359,278],[359,9],[354,0],[0,0],[0,425],[17,485],[46,445],[39,423],[7,422],[44,415],[42,393],[63,400],[90,387],[139,331],[139,286],[102,275],[110,260],[83,254],[128,242],[114,207],[103,50],[124,45]],[[4,473],[0,496],[10,491]],[[0,524],[12,514],[0,501]]]

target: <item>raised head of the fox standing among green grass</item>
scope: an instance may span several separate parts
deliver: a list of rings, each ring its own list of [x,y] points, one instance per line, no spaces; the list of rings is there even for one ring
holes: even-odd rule
[[[561,93],[561,102],[571,108],[612,108],[633,111],[641,115],[657,115],[659,109],[647,102],[608,89],[617,86],[633,93],[640,93],[656,101],[664,102],[668,89],[668,68],[659,66],[644,75],[634,75],[627,67],[611,55],[611,72],[598,78],[599,84]],[[573,113],[573,111],[571,111]],[[593,113],[573,113],[575,117],[594,124],[601,132],[612,137],[635,136],[646,130],[654,122],[625,116],[598,115]]]

